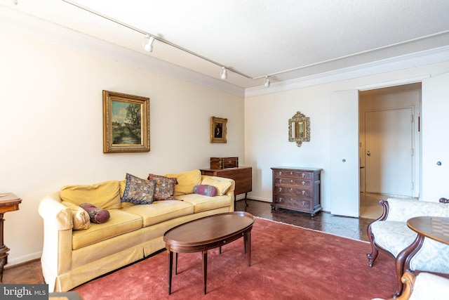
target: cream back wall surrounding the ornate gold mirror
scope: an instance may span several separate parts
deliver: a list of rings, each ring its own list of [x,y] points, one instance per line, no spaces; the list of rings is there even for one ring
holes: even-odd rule
[[[384,87],[392,82],[406,83],[417,77],[433,77],[449,72],[449,63],[438,63],[408,70],[382,73],[356,79],[335,81],[330,84],[307,86],[293,91],[272,93],[245,99],[245,157],[246,164],[253,167],[253,192],[248,197],[256,200],[272,201],[272,170],[270,167],[299,166],[321,167],[322,206],[330,211],[331,202],[338,202],[338,195],[330,195],[330,180],[343,182],[330,169],[330,128],[338,124],[330,123],[330,95],[334,91],[361,89],[363,86]],[[449,83],[448,83],[449,84]],[[427,103],[423,100],[423,112]],[[288,119],[301,111],[310,117],[311,141],[297,148],[288,142]],[[431,112],[432,110],[427,110]],[[425,131],[423,115],[423,135],[427,141],[440,138],[435,132]],[[439,120],[437,122],[444,122]],[[344,133],[342,133],[344,134]],[[424,138],[423,138],[424,141]],[[422,154],[423,156],[425,153]],[[449,152],[440,159],[449,160]],[[358,183],[353,184],[358,188]],[[446,186],[441,186],[439,194],[448,195]],[[438,201],[438,200],[436,200]]]

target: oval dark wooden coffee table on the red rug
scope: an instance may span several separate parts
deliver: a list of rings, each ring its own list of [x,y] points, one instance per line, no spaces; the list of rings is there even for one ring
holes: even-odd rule
[[[173,273],[173,252],[175,253],[175,274],[177,273],[177,254],[203,252],[203,288],[206,294],[208,249],[221,247],[224,244],[243,237],[248,266],[251,266],[251,229],[254,217],[246,211],[232,211],[215,214],[190,221],[168,230],[163,235],[168,254],[168,294],[171,294]]]

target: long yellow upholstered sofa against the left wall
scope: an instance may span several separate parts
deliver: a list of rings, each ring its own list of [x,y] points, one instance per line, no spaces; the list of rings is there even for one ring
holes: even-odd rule
[[[188,193],[193,186],[183,184],[185,174],[194,174],[195,178],[199,174],[196,184],[205,180],[217,183],[219,192],[220,188],[229,188],[215,197]],[[68,291],[163,249],[163,234],[170,228],[204,216],[234,211],[235,183],[232,179],[201,176],[199,170],[177,175],[180,175],[174,196],[177,200],[152,204],[121,202],[126,181],[80,185],[84,188],[85,202],[107,209],[110,215],[105,223],[91,223],[88,229],[74,230],[78,216],[74,207],[79,203],[76,200],[73,205],[67,203],[67,188],[43,197],[39,204],[44,235],[41,265],[49,292]],[[103,195],[119,193],[119,196],[102,199],[98,190]]]

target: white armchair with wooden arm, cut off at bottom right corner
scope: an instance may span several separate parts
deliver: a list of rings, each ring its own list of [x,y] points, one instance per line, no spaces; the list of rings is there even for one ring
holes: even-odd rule
[[[445,300],[449,295],[449,279],[431,273],[420,273],[417,276],[406,272],[402,276],[405,285],[403,293],[395,300]],[[376,298],[373,300],[382,300]],[[393,298],[388,299],[393,300]]]

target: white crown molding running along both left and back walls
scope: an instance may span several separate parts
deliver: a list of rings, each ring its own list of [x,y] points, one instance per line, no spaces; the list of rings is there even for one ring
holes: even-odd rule
[[[139,53],[128,48],[108,43],[107,41],[95,39],[87,34],[76,32],[67,27],[62,27],[32,15],[27,15],[6,6],[0,6],[0,22],[2,23],[3,30],[20,32],[21,34],[49,41],[53,44],[68,46],[96,56],[140,67],[168,77],[189,81],[193,84],[199,84],[210,89],[230,93],[242,98],[279,93],[293,89],[302,89],[307,86],[328,84],[334,81],[366,77],[374,74],[382,74],[385,72],[405,70],[411,67],[420,67],[423,65],[449,61],[449,46],[443,46],[427,51],[397,56],[395,58],[378,60],[373,63],[346,67],[297,79],[274,82],[269,88],[265,86],[255,86],[244,89],[241,86],[229,84],[227,81],[153,58],[145,53]]]

